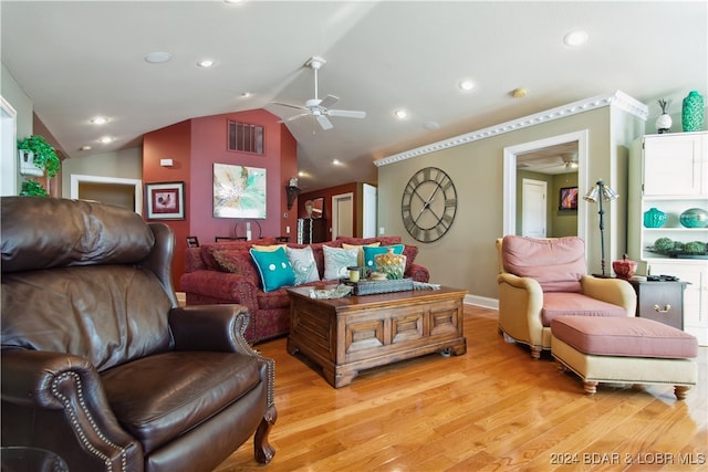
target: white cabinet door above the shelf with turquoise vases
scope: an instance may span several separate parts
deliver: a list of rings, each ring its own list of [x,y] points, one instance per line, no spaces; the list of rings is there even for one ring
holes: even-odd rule
[[[705,134],[645,136],[644,196],[706,193],[705,146]]]

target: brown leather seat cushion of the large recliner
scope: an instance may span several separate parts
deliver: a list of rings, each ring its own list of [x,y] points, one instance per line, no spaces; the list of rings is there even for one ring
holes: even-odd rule
[[[163,353],[102,374],[115,416],[146,454],[218,415],[259,382],[254,357],[217,352]]]

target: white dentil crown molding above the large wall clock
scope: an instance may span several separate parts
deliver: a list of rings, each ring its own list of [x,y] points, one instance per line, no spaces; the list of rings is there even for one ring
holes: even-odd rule
[[[455,136],[437,143],[420,146],[415,149],[406,150],[404,153],[395,154],[393,156],[384,157],[382,159],[374,160],[374,165],[376,167],[382,167],[388,164],[399,162],[413,157],[418,157],[426,154],[435,153],[437,150],[469,144],[492,136],[503,135],[504,133],[516,132],[518,129],[528,128],[529,126],[539,125],[541,123],[566,118],[572,115],[590,112],[591,109],[595,108],[602,108],[604,106],[617,107],[618,109],[634,115],[644,122],[646,122],[646,118],[649,115],[649,108],[645,104],[631,97],[624,92],[616,91],[612,94],[597,95],[592,98],[581,99],[579,102],[573,102],[568,105],[548,109],[545,112],[528,115],[522,118],[512,119],[510,122],[490,126],[488,128],[466,133],[464,135]]]

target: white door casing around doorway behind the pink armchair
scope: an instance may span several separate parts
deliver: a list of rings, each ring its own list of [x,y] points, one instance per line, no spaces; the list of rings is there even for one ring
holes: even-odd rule
[[[523,143],[517,146],[506,147],[503,151],[503,234],[517,234],[517,221],[521,221],[522,208],[518,208],[517,202],[517,165],[522,155],[537,151],[540,149],[561,146],[568,143],[574,143],[577,146],[577,185],[581,191],[587,189],[587,146],[589,130],[569,133],[549,138]],[[585,206],[577,208],[577,232],[576,234],[585,240],[587,234],[587,218],[585,216]]]

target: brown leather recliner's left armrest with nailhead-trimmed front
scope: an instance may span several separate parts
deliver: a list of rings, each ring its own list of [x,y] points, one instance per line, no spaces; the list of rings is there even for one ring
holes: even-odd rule
[[[113,415],[96,369],[84,358],[65,353],[4,349],[2,352],[3,428],[17,431],[15,444],[44,447],[56,436],[66,451],[81,449],[83,463],[113,470],[143,470],[143,447]],[[48,411],[52,410],[52,411]],[[60,410],[58,417],[56,410]],[[37,424],[63,419],[48,431]],[[69,431],[73,431],[69,433]],[[63,451],[55,451],[62,455]],[[112,465],[108,465],[112,464]]]

